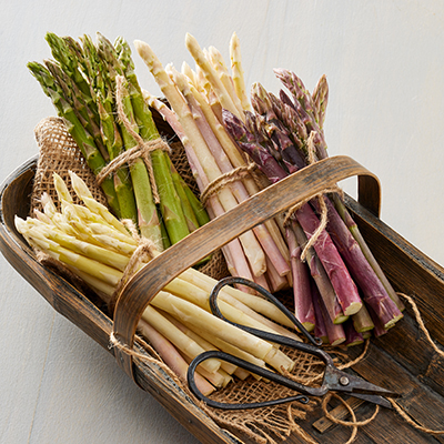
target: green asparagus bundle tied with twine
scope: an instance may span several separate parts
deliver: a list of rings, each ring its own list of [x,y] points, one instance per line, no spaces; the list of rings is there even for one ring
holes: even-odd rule
[[[56,60],[28,68],[63,118],[113,213],[137,223],[160,251],[205,223],[205,211],[159,143],[125,40],[112,44],[100,33],[95,43],[89,36],[80,43],[53,33],[46,38]]]

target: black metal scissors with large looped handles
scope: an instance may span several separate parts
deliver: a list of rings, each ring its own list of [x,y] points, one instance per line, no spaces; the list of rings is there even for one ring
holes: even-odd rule
[[[218,295],[220,291],[222,290],[223,286],[230,285],[230,284],[242,284],[252,287],[253,290],[258,291],[260,294],[262,294],[265,299],[268,299],[270,302],[272,302],[278,309],[280,309],[286,317],[289,317],[294,325],[297,326],[300,332],[306,337],[309,343],[305,342],[299,342],[295,341],[291,337],[282,336],[280,334],[274,334],[270,332],[264,332],[258,329],[252,329],[245,325],[236,324],[234,322],[229,321],[225,319],[221,311],[219,310],[218,306]],[[258,337],[261,337],[266,341],[271,341],[281,345],[286,345],[290,347],[293,347],[295,350],[300,350],[302,352],[312,354],[316,357],[319,357],[324,364],[325,364],[325,371],[323,375],[323,381],[321,386],[319,387],[311,387],[303,385],[301,383],[297,383],[295,381],[292,381],[281,374],[274,373],[272,371],[269,371],[264,367],[260,367],[258,365],[254,365],[248,361],[241,360],[236,356],[233,356],[231,354],[228,354],[225,352],[221,352],[219,350],[214,351],[208,351],[204,353],[201,353],[194,360],[190,363],[189,370],[188,370],[188,384],[191,390],[191,392],[201,401],[204,401],[208,405],[215,407],[215,408],[224,408],[224,410],[243,410],[243,408],[256,408],[256,407],[265,407],[265,406],[272,406],[272,405],[278,405],[278,404],[283,404],[287,402],[293,402],[297,401],[302,404],[307,404],[310,398],[309,396],[324,396],[329,392],[343,392],[345,394],[349,394],[350,396],[359,397],[364,401],[372,402],[374,404],[379,404],[381,406],[387,407],[387,408],[393,408],[391,402],[385,397],[400,397],[401,395],[397,393],[394,393],[392,391],[389,391],[386,389],[380,387],[377,385],[374,385],[367,381],[364,381],[363,379],[355,376],[351,373],[343,372],[339,370],[333,362],[333,359],[329,353],[326,353],[324,350],[320,347],[322,344],[322,341],[319,337],[313,337],[306,329],[297,321],[297,319],[287,310],[276,297],[274,297],[270,292],[268,292],[264,287],[261,285],[258,285],[255,282],[252,282],[250,280],[245,280],[243,278],[238,278],[238,276],[229,276],[224,278],[221,281],[218,282],[218,284],[213,287],[211,294],[210,294],[210,307],[212,313],[222,319],[223,321],[235,325],[251,334],[254,334]],[[278,400],[268,400],[263,402],[254,402],[254,403],[222,403],[219,401],[211,400],[203,395],[194,381],[194,374],[196,366],[201,364],[203,361],[209,360],[211,357],[215,357],[229,363],[232,363],[234,365],[238,365],[241,369],[244,369],[249,372],[255,373],[256,375],[263,376],[270,381],[276,382],[278,384],[281,384],[287,389],[292,389],[296,392],[293,396],[287,396],[283,398],[278,398]]]

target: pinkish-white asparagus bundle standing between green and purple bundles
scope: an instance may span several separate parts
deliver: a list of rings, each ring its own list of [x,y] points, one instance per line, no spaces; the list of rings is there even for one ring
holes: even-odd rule
[[[218,119],[218,109],[221,108],[232,110],[239,118],[244,115],[234,88],[238,84],[238,89],[242,89],[242,77],[235,77],[235,82],[229,75],[221,54],[211,48],[205,57],[190,34],[186,36],[186,46],[198,62],[196,72],[186,64],[182,72],[171,65],[164,69],[147,43],[135,41],[134,44],[171,110],[149,92],[145,92],[145,98],[180,137],[210,216],[216,218],[255,194],[260,189],[251,176],[232,175],[234,170],[246,168],[246,162]],[[240,70],[240,61],[235,60],[236,48],[234,34],[233,63]],[[289,286],[289,249],[275,221],[242,234],[225,245],[223,252],[233,275],[254,280],[273,292]]]

